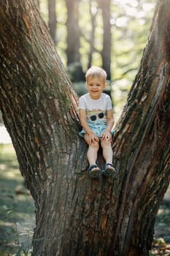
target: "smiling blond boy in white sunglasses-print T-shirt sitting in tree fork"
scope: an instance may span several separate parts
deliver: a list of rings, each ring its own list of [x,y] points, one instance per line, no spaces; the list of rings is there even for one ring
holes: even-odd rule
[[[103,93],[107,86],[107,73],[100,67],[90,67],[85,79],[88,94],[79,99],[79,116],[83,128],[79,134],[88,143],[88,173],[92,178],[97,178],[101,173],[112,176],[115,174],[111,146],[114,118],[111,99]],[[102,172],[96,165],[99,143],[106,161]]]

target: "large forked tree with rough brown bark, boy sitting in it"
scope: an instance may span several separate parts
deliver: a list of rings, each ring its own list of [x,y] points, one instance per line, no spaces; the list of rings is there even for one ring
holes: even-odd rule
[[[157,1],[115,128],[119,178],[91,180],[77,96],[34,1],[1,1],[0,106],[34,197],[34,256],[148,255],[170,175],[169,11],[169,0]]]

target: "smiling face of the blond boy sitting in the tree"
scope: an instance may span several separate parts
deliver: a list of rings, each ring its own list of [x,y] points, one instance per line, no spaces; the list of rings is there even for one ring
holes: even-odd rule
[[[106,82],[104,78],[90,77],[86,80],[86,86],[90,97],[92,99],[99,99],[101,97],[102,91],[106,87]]]

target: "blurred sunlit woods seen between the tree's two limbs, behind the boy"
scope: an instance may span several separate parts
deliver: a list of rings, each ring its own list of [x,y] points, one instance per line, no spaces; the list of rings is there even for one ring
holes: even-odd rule
[[[39,0],[38,6],[79,96],[91,65],[106,70],[117,120],[142,59],[155,1]]]

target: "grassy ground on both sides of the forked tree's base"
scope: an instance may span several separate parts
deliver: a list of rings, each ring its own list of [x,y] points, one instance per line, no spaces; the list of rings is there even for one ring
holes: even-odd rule
[[[35,226],[34,202],[12,144],[0,144],[0,256],[31,255]],[[170,187],[158,211],[150,255],[170,255]]]

